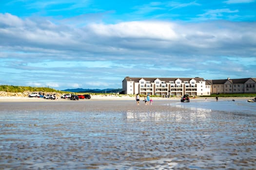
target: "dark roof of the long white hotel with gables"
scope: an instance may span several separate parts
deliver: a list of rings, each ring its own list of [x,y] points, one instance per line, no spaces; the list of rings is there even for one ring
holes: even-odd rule
[[[170,82],[170,81],[176,81],[177,79],[180,79],[182,82],[186,82],[186,81],[190,81],[192,79],[195,79],[197,82],[199,81],[204,81],[203,78],[200,77],[196,77],[196,78],[161,78],[161,77],[156,77],[156,78],[148,78],[148,77],[125,77],[126,81],[134,81],[134,82],[138,82],[141,79],[144,79],[145,81],[149,81],[149,82],[154,82],[156,79],[159,79],[160,81],[164,81],[164,82]]]

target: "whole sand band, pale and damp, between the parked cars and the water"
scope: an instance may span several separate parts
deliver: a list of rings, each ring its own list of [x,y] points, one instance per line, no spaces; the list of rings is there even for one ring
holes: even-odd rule
[[[196,101],[205,101],[205,98],[191,99],[191,102]],[[214,102],[215,98],[209,98],[207,101]],[[83,99],[79,101],[0,97],[0,109],[2,111],[27,110],[48,112],[173,112],[181,108],[171,107],[168,103],[176,102],[180,102],[180,99],[154,98],[152,105],[145,105],[143,100],[140,100],[140,104],[137,105],[133,97],[92,97],[90,100]]]

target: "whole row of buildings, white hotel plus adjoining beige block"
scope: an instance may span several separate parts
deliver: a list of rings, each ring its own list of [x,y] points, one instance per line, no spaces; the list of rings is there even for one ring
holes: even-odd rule
[[[122,81],[124,94],[207,96],[219,93],[256,93],[256,78],[204,80],[203,78],[132,78]]]

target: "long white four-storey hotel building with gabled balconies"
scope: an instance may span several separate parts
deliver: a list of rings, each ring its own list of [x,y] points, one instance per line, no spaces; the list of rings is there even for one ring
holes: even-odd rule
[[[203,78],[133,78],[122,81],[124,94],[158,96],[201,96],[211,94],[211,85]]]

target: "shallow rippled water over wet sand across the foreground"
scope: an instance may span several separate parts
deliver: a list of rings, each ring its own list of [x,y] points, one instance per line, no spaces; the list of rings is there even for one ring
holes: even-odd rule
[[[219,101],[160,103],[159,111],[136,107],[145,106],[0,111],[0,169],[256,169],[255,106]]]

